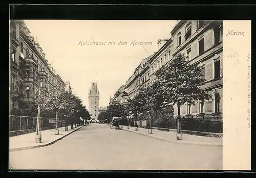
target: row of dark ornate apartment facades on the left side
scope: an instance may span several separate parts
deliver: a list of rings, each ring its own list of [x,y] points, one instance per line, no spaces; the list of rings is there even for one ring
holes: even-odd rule
[[[46,54],[24,20],[10,21],[10,110],[19,108],[24,114],[39,94],[46,95],[66,86],[48,64]]]

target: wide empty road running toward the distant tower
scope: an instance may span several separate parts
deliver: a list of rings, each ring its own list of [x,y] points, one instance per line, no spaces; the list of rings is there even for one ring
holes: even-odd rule
[[[222,147],[169,143],[98,123],[49,146],[10,152],[9,158],[13,169],[222,169]]]

